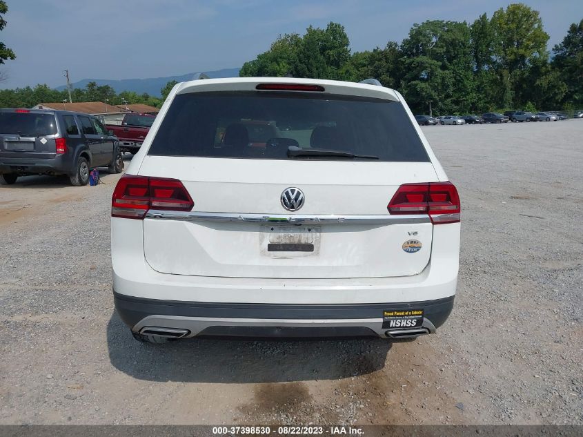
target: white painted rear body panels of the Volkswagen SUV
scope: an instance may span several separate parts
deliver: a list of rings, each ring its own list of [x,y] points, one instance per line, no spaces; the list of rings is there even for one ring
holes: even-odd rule
[[[322,84],[326,93],[404,101],[394,90],[339,81],[284,78],[207,79],[177,84],[128,174],[180,179],[192,211],[288,213],[290,186],[304,191],[303,215],[388,215],[401,184],[446,181],[431,147],[404,104],[431,162],[344,162],[148,156],[174,96],[255,90],[257,83]],[[292,214],[292,213],[288,213]],[[113,286],[141,298],[190,302],[345,304],[411,302],[455,294],[460,224],[322,225],[317,252],[266,254],[260,224],[112,218]],[[412,237],[409,233],[417,233]],[[402,244],[422,242],[417,253]]]

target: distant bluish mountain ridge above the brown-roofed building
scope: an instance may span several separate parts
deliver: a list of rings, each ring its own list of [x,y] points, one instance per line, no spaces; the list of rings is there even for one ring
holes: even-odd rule
[[[239,77],[239,68],[224,68],[222,70],[216,71],[201,71],[211,79],[218,77]],[[138,94],[148,93],[149,95],[159,97],[160,89],[164,88],[169,81],[175,80],[177,82],[184,82],[191,80],[193,77],[198,76],[201,72],[192,72],[181,76],[168,76],[168,77],[150,77],[149,79],[83,79],[72,83],[73,88],[85,88],[89,82],[96,82],[97,85],[109,85],[116,93],[121,93],[121,91],[135,91]],[[64,90],[66,86],[59,86],[57,90]]]

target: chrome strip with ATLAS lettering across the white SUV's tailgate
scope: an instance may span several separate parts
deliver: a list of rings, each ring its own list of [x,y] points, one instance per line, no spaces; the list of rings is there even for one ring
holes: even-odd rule
[[[146,218],[183,222],[234,222],[269,224],[412,224],[430,223],[428,215],[285,215],[201,213],[198,211],[160,211],[150,209]]]

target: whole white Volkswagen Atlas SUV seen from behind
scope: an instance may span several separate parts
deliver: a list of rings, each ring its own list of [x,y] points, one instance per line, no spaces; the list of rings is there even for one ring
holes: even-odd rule
[[[453,307],[460,198],[374,79],[177,84],[112,197],[137,340],[416,337]]]

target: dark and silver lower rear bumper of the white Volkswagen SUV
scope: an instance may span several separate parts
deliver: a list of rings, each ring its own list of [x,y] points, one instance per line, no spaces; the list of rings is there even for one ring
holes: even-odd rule
[[[240,304],[155,300],[114,291],[117,313],[137,333],[170,329],[194,336],[379,336],[414,337],[433,333],[448,318],[454,296],[424,302],[375,304]],[[422,309],[415,329],[384,324],[384,311]]]

